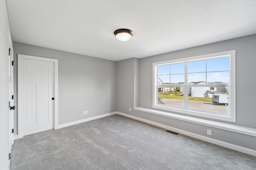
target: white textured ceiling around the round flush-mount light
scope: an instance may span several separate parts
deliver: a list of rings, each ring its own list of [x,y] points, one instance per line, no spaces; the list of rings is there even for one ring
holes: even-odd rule
[[[256,0],[6,0],[13,40],[120,61],[256,33]],[[131,29],[129,41],[114,31]]]

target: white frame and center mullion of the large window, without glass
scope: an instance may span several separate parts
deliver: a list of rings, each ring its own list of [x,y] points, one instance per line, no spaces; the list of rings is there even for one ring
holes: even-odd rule
[[[173,107],[173,106],[164,106],[158,105],[158,73],[157,73],[157,66],[165,65],[165,64],[174,64],[174,63],[183,63],[183,62],[190,62],[190,61],[197,61],[197,60],[204,60],[204,59],[214,59],[219,57],[229,57],[229,85],[228,85],[228,113],[227,114],[219,114],[214,112],[208,111],[198,111],[193,109],[188,109],[188,100],[184,101],[184,108],[182,107]],[[188,115],[195,115],[200,117],[207,117],[212,119],[224,120],[224,121],[231,121],[236,122],[236,50],[232,51],[224,51],[220,53],[212,53],[194,57],[187,57],[182,59],[174,59],[169,61],[162,61],[152,64],[153,70],[153,100],[152,100],[152,107],[156,109],[162,109],[166,111],[170,111],[172,113],[184,113]],[[187,84],[187,66],[185,64],[185,82],[184,82],[184,96],[188,96],[188,85]],[[173,84],[166,85],[166,86],[174,86]],[[180,85],[179,85],[180,86]],[[183,85],[182,85],[183,86]],[[211,86],[211,85],[203,85],[203,86]],[[215,86],[215,85],[214,85]],[[217,85],[218,86],[218,85]]]

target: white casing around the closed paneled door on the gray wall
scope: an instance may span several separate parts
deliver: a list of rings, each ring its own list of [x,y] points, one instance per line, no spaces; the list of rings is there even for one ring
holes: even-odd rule
[[[59,100],[58,100],[58,60],[44,57],[18,54],[18,139],[23,133],[23,60],[46,61],[54,63],[54,129],[58,129]]]

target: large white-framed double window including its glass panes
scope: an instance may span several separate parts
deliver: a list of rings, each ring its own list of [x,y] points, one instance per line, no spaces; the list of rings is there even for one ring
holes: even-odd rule
[[[153,108],[235,122],[235,50],[153,63]]]

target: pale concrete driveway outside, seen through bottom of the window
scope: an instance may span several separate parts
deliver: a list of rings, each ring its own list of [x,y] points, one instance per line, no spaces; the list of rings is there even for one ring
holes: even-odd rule
[[[165,105],[168,106],[183,106],[183,100],[172,100],[172,99],[160,99]],[[160,104],[160,101],[158,101]],[[214,103],[208,102],[197,102],[197,101],[188,101],[189,109],[200,109],[203,111],[212,111],[218,113],[228,113],[228,106],[223,106]]]

